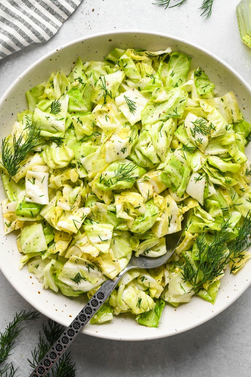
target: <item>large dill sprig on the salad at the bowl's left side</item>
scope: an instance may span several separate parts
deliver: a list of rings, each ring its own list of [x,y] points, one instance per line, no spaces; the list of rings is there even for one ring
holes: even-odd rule
[[[26,134],[26,139],[23,141],[25,133],[16,139],[13,135],[13,147],[10,146],[7,138],[2,139],[2,165],[7,170],[10,179],[16,175],[20,169],[20,162],[23,161],[27,154],[39,147],[42,143],[40,141],[40,130],[38,130],[34,123],[30,124],[29,130]]]

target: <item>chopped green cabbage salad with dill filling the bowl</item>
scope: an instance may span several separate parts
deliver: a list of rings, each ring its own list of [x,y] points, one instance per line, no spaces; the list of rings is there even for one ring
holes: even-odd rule
[[[5,234],[45,289],[90,298],[132,252],[165,254],[190,210],[169,261],[126,273],[91,323],[129,311],[157,327],[166,303],[214,303],[225,269],[250,257],[251,124],[190,64],[170,48],[78,59],[26,92],[3,139]]]

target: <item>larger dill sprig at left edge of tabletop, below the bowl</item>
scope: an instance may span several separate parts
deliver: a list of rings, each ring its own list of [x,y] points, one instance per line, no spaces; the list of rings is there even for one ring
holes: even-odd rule
[[[39,313],[37,311],[26,313],[25,310],[22,310],[19,314],[16,313],[13,321],[6,326],[5,331],[0,333],[0,363],[4,362],[11,355],[11,351],[15,347],[15,339],[24,329],[24,327],[21,327],[21,323],[35,319],[38,316]]]

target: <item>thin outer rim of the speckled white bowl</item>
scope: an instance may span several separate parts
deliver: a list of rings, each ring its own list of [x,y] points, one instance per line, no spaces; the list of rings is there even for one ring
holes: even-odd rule
[[[53,48],[50,52],[48,52],[47,54],[43,55],[42,57],[38,58],[34,63],[30,64],[29,67],[27,67],[10,85],[9,87],[5,90],[5,92],[3,93],[3,95],[1,96],[0,98],[0,105],[3,103],[4,99],[6,97],[8,97],[9,95],[9,92],[11,92],[12,88],[16,85],[16,83],[24,77],[24,75],[26,75],[29,70],[31,70],[33,67],[35,66],[38,66],[38,64],[40,64],[42,61],[46,60],[48,57],[50,57],[51,55],[53,55],[55,52],[59,52],[61,49],[64,49],[64,48],[67,48],[68,46],[71,46],[72,44],[75,44],[75,43],[78,43],[78,42],[81,42],[81,41],[84,41],[84,40],[88,40],[88,39],[92,39],[92,38],[96,38],[96,37],[101,37],[101,36],[105,36],[105,35],[113,35],[113,34],[151,34],[151,35],[156,35],[158,37],[164,37],[164,38],[169,38],[169,39],[172,39],[174,42],[177,41],[179,43],[184,43],[188,46],[192,46],[193,48],[196,48],[196,49],[199,49],[201,51],[203,51],[205,54],[211,56],[212,58],[214,58],[216,61],[218,61],[218,63],[221,63],[223,66],[225,66],[228,70],[231,71],[231,73],[237,77],[237,79],[246,87],[246,89],[250,92],[251,94],[251,86],[246,82],[245,79],[242,78],[242,76],[233,68],[230,66],[230,64],[226,63],[223,59],[219,58],[217,55],[215,55],[214,53],[208,51],[207,49],[205,49],[204,47],[201,47],[199,46],[198,44],[196,43],[193,43],[193,42],[190,42],[184,38],[180,38],[180,37],[176,37],[174,35],[171,35],[171,34],[167,34],[167,33],[162,33],[162,32],[156,32],[156,31],[151,31],[151,30],[141,30],[141,29],[132,29],[132,30],[128,30],[128,29],[120,29],[120,30],[112,30],[112,31],[103,31],[103,32],[97,32],[97,33],[93,33],[93,34],[89,34],[89,35],[86,35],[84,37],[80,37],[80,38],[77,38],[77,39],[74,39],[74,40],[71,40],[67,43],[64,43],[62,45],[60,45],[59,47],[56,47],[56,48]],[[13,55],[14,56],[14,55]],[[10,282],[10,284],[12,285],[12,282],[11,280],[9,279],[9,276],[7,274],[5,274],[4,271],[1,270],[1,272],[3,273],[3,275],[6,277],[6,279]],[[245,284],[246,283],[246,284]],[[137,337],[137,339],[133,338],[132,336],[127,336],[127,337],[123,337],[123,339],[121,339],[118,335],[116,334],[110,334],[109,336],[107,335],[104,335],[104,334],[100,334],[99,332],[96,333],[96,332],[92,332],[92,331],[88,331],[87,328],[84,328],[82,333],[86,334],[86,335],[90,335],[90,336],[95,336],[95,337],[99,337],[99,338],[103,338],[103,339],[110,339],[110,340],[125,340],[125,341],[140,341],[140,340],[152,340],[152,339],[161,339],[161,338],[164,338],[164,337],[168,337],[168,336],[173,336],[175,334],[179,334],[179,333],[183,333],[185,331],[188,331],[192,328],[195,328],[199,325],[201,325],[202,323],[205,323],[207,322],[208,320],[210,319],[213,319],[213,317],[215,317],[216,315],[218,315],[219,313],[221,313],[222,311],[224,311],[226,308],[228,308],[234,301],[236,301],[245,291],[246,289],[249,287],[249,285],[251,284],[251,281],[250,282],[243,282],[243,285],[242,287],[238,290],[239,294],[237,297],[232,297],[228,302],[225,302],[224,305],[222,305],[221,308],[217,309],[216,311],[213,311],[213,313],[209,313],[208,314],[208,317],[207,318],[202,318],[200,320],[198,320],[198,322],[196,323],[196,325],[192,324],[192,325],[189,325],[187,324],[186,326],[183,326],[180,330],[178,331],[175,331],[173,333],[170,333],[170,334],[163,334],[163,333],[148,333],[147,334],[147,337],[143,337],[143,336],[139,336]],[[13,285],[12,285],[13,286]],[[29,297],[24,297],[23,295],[23,291],[21,290],[21,288],[19,289],[18,285],[17,286],[14,286],[14,289],[20,294],[21,297],[23,297],[30,305],[32,305],[36,310],[37,310],[37,305],[35,302],[30,302],[29,300]],[[35,304],[35,305],[34,305]],[[40,311],[41,314],[47,316],[47,312],[46,310],[43,310],[41,307],[38,309],[38,311]],[[56,315],[51,315],[50,318],[52,318],[53,320],[55,320],[57,322],[57,318],[56,318]]]

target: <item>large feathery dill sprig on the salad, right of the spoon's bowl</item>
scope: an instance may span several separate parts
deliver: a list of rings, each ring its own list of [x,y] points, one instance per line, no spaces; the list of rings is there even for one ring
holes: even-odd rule
[[[205,233],[197,237],[197,261],[190,261],[187,252],[183,254],[185,263],[180,267],[183,278],[195,288],[222,275],[223,268],[230,262],[234,262],[235,258],[241,258],[242,252],[251,245],[251,215],[249,213],[242,227],[238,228],[237,237],[231,242],[229,227],[230,219],[228,218],[222,222],[221,230],[214,233],[213,241],[209,245],[206,242]],[[234,270],[235,267],[232,266],[231,272]]]

